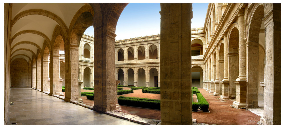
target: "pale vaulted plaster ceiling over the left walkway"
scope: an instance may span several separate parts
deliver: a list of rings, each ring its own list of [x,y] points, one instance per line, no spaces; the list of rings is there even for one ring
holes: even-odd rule
[[[57,17],[59,17],[58,20],[63,21],[62,27],[65,28],[64,26],[66,26],[67,28],[69,28],[72,18],[74,17],[76,12],[84,5],[86,4],[12,4],[11,20],[16,18],[16,16],[18,14],[20,15],[23,11],[31,9],[41,9],[50,12],[50,15],[56,15]],[[52,18],[41,15],[41,13],[27,15],[19,18],[11,27],[11,38],[14,38],[11,42],[11,48],[14,47],[13,50],[11,50],[11,54],[17,49],[29,49],[30,51],[37,54],[39,49],[38,47],[36,47],[36,45],[38,45],[41,50],[44,50],[44,48],[42,48],[44,40],[46,38],[48,41],[52,40],[52,34],[56,25],[60,24]],[[15,34],[21,31],[27,31],[27,33],[15,36]],[[44,36],[32,34],[30,32],[39,32],[44,34]],[[28,43],[15,45],[19,42],[32,42],[36,45],[31,45]],[[11,61],[16,58],[23,58],[28,62],[29,58],[32,59],[33,56],[30,51],[20,50],[14,52],[13,55],[11,55],[11,58],[15,55],[17,56],[13,57]],[[29,58],[21,54],[27,55]]]

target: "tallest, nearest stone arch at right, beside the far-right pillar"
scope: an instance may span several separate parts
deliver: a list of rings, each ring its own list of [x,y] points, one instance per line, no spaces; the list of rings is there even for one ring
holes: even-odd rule
[[[258,103],[258,95],[263,95],[264,88],[260,82],[264,82],[265,67],[265,34],[264,21],[265,9],[263,4],[255,4],[249,13],[248,47],[247,47],[247,108],[263,107]],[[250,62],[250,63],[249,63]],[[262,97],[263,98],[263,97]]]

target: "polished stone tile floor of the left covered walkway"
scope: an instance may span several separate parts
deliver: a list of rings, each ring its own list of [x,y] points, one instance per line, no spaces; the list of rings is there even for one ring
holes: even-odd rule
[[[32,88],[11,88],[8,125],[140,125]]]

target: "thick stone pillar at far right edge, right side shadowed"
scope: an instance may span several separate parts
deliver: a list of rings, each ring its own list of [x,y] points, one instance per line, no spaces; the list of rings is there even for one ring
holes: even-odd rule
[[[260,119],[281,125],[281,4],[267,4],[265,11],[265,105]]]

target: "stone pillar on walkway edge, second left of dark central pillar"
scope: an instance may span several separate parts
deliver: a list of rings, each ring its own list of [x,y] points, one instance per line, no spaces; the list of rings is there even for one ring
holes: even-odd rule
[[[67,42],[69,43],[69,42]],[[65,100],[78,101],[78,46],[65,44]],[[95,93],[94,93],[95,94]]]

